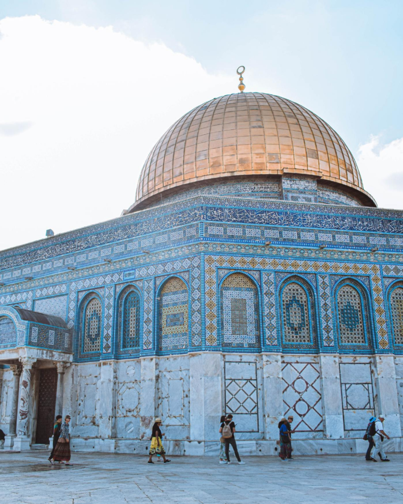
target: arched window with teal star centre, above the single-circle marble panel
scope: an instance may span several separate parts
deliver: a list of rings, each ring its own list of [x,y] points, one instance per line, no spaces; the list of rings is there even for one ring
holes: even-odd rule
[[[361,287],[342,285],[336,294],[338,330],[341,345],[365,345],[365,293]]]

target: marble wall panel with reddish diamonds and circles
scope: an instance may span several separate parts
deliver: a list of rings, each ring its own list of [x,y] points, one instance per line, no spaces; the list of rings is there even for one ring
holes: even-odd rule
[[[298,432],[323,432],[319,366],[316,363],[283,362],[284,416],[293,414]],[[294,426],[295,425],[295,426]]]

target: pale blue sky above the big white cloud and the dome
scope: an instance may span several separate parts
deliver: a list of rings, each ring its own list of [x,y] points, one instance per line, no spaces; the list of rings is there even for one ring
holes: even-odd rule
[[[3,0],[0,16],[112,25],[161,41],[211,73],[245,65],[248,91],[302,103],[356,154],[403,136],[403,2]]]

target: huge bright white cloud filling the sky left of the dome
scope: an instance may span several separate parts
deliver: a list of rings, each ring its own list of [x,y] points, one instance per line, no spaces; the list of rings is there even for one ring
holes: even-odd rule
[[[0,249],[120,215],[182,114],[236,90],[161,43],[39,16],[0,21]]]

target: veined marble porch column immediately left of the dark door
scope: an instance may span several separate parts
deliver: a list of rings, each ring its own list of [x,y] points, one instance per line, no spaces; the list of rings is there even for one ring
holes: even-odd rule
[[[20,357],[22,362],[20,404],[18,408],[17,437],[14,438],[14,450],[30,449],[30,433],[28,430],[28,415],[30,410],[31,371],[36,359]]]

